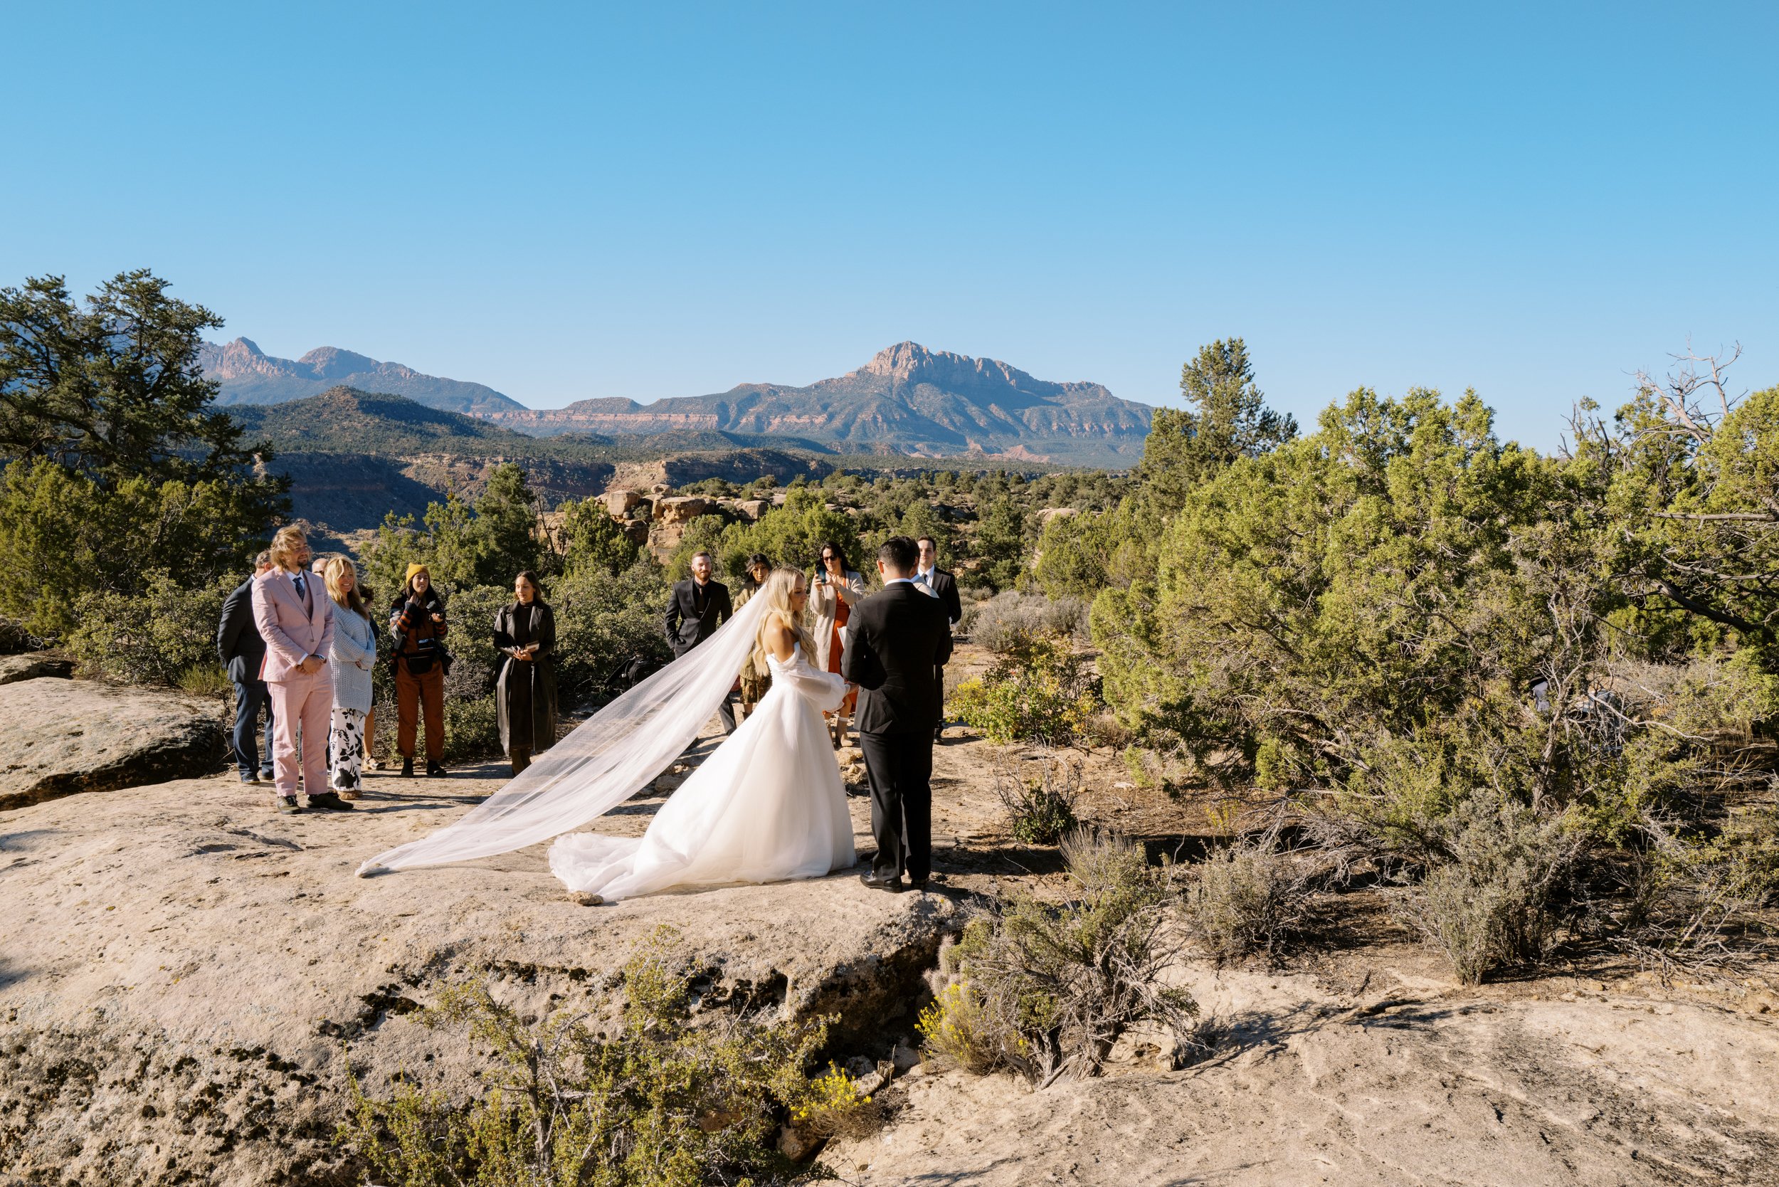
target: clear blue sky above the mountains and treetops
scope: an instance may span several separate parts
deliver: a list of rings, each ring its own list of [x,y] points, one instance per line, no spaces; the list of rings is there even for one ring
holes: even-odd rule
[[[274,354],[534,406],[913,338],[1553,445],[1688,335],[1779,383],[1779,5],[21,4],[0,283],[146,265]]]

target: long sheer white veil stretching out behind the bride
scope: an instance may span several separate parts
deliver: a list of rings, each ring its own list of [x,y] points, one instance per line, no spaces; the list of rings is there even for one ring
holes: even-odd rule
[[[359,877],[523,849],[624,803],[717,712],[765,614],[767,600],[749,598],[710,639],[580,723],[464,819],[379,852],[358,867]]]

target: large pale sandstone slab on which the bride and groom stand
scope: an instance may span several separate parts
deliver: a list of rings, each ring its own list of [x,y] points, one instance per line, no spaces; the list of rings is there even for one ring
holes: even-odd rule
[[[902,1016],[964,904],[852,874],[584,908],[543,847],[381,877],[356,867],[493,792],[372,774],[352,813],[279,817],[228,776],[0,813],[0,1182],[359,1182],[333,1144],[350,1070],[374,1094],[480,1066],[407,1018],[464,979],[544,1016],[596,1009],[660,925],[703,1011]],[[640,826],[648,804],[612,817]],[[601,822],[601,824],[607,824]],[[852,1048],[856,1050],[856,1048]]]

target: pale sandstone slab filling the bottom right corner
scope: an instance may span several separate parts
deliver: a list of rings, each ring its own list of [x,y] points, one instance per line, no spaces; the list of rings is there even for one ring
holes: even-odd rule
[[[1044,1091],[909,1075],[890,1128],[822,1159],[861,1187],[1775,1182],[1772,1023],[1487,991],[1363,1013],[1311,981],[1199,977],[1228,1038],[1183,1071],[1114,1068]]]

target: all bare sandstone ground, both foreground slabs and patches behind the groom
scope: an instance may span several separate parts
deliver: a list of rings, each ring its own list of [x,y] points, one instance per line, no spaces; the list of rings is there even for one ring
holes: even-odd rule
[[[955,671],[984,662],[966,648]],[[279,817],[231,776],[0,812],[0,1182],[347,1182],[329,1139],[349,1057],[372,1091],[397,1073],[461,1082],[461,1041],[406,1016],[432,991],[482,977],[530,1013],[594,1002],[662,924],[704,970],[706,1007],[838,1011],[834,1054],[884,1059],[939,936],[1012,883],[1060,883],[994,795],[996,769],[1034,762],[948,731],[943,884],[900,897],[843,872],[580,908],[541,849],[350,877],[498,787],[498,765],[374,774],[350,815]],[[1131,787],[1112,751],[1083,762],[1092,822],[1188,856],[1215,842],[1219,812]],[[678,778],[598,828],[640,833]],[[850,803],[868,849],[866,801]],[[1761,970],[1663,981],[1578,952],[1466,989],[1377,890],[1324,895],[1316,918],[1283,968],[1176,970],[1219,1036],[1192,1068],[1126,1043],[1108,1075],[1032,1091],[923,1064],[881,1093],[881,1132],[820,1157],[873,1187],[1779,1183],[1779,997]]]

